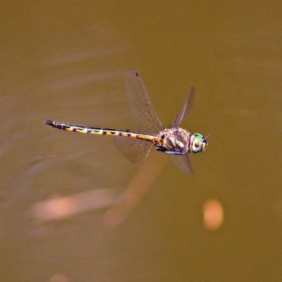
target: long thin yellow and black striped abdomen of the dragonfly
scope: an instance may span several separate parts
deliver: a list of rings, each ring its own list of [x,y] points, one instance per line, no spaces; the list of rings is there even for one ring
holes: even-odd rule
[[[51,125],[54,128],[78,132],[78,133],[123,136],[123,137],[147,140],[153,143],[156,142],[156,136],[154,135],[133,133],[133,132],[130,132],[129,130],[116,130],[116,129],[109,129],[109,128],[92,128],[92,127],[87,127],[83,125],[75,125],[71,123],[61,123],[61,122],[56,122],[56,121],[51,121],[51,120],[44,121],[44,123],[46,123],[47,125]]]

